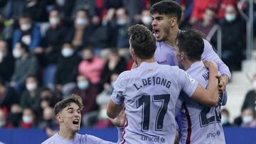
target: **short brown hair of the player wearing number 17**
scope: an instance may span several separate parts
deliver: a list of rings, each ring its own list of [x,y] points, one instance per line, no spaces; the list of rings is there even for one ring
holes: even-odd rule
[[[145,60],[153,57],[156,50],[156,38],[149,28],[137,24],[128,29],[128,34],[130,44],[139,58]]]

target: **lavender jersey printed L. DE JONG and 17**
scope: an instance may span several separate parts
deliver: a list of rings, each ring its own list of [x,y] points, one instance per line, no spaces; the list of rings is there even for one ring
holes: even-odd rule
[[[111,99],[124,104],[127,123],[122,143],[174,143],[175,104],[181,90],[192,96],[198,82],[178,67],[142,64],[119,74]]]

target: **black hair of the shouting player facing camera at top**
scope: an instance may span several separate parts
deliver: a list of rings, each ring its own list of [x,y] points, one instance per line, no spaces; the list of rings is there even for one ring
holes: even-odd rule
[[[179,21],[181,21],[181,6],[176,1],[165,0],[159,1],[158,3],[151,6],[150,13],[166,14],[168,16],[175,16]]]

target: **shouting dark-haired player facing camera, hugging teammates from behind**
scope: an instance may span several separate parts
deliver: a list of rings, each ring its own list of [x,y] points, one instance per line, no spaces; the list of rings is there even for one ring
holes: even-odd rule
[[[181,20],[181,6],[175,1],[160,1],[151,6],[150,13],[153,18],[151,23],[153,33],[157,40],[154,59],[159,64],[177,65],[174,46],[176,36],[181,31],[178,29],[178,23]],[[223,92],[231,77],[230,70],[213,51],[210,43],[207,40],[203,40],[203,43],[202,60],[213,60],[217,63],[220,74],[222,74],[219,87]]]

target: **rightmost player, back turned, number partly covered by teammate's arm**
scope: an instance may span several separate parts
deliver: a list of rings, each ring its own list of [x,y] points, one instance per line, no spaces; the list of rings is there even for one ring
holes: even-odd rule
[[[203,39],[198,31],[181,31],[176,38],[178,66],[203,87],[207,87],[209,71],[201,61]],[[225,99],[223,99],[223,96]],[[225,143],[221,125],[220,106],[226,102],[226,94],[220,93],[217,106],[203,106],[182,94],[176,104],[181,111],[180,143]]]

